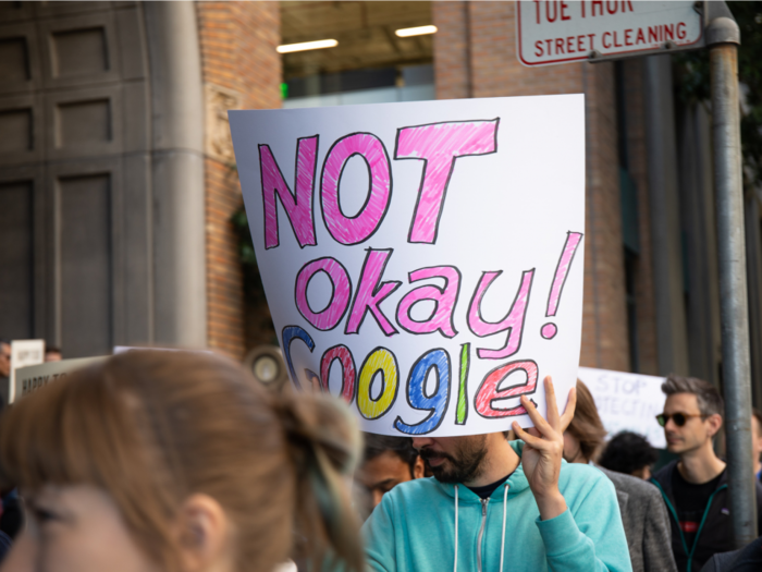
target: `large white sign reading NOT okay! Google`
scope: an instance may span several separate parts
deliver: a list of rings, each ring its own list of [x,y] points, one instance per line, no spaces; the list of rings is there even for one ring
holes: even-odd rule
[[[366,431],[531,426],[579,365],[581,95],[231,111],[257,264],[297,386]]]

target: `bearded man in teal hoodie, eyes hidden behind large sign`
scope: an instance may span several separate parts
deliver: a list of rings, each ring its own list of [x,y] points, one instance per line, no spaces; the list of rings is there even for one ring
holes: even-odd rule
[[[396,486],[364,525],[373,571],[629,571],[627,540],[611,482],[563,463],[574,390],[558,415],[545,379],[548,418],[521,395],[534,424],[503,433],[413,438],[435,478]]]

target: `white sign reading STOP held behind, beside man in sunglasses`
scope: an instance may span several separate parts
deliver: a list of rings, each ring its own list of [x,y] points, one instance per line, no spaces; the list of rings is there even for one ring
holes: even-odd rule
[[[666,448],[664,429],[656,422],[666,399],[663,377],[580,367],[579,379],[590,389],[609,438],[619,431],[634,431],[653,447]]]

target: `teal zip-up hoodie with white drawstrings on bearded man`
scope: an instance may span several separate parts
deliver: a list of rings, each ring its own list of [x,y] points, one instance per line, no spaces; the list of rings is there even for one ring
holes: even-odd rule
[[[524,442],[511,445],[520,457]],[[564,462],[558,488],[567,510],[541,521],[520,464],[484,501],[463,485],[433,477],[397,485],[362,527],[368,567],[386,572],[631,572],[611,480],[593,466]]]

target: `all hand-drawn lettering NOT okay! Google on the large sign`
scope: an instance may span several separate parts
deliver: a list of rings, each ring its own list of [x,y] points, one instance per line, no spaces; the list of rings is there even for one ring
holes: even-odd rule
[[[259,175],[261,188],[261,231],[265,251],[281,246],[279,211],[284,212],[299,248],[317,246],[315,203],[319,200],[322,220],[331,239],[343,246],[359,245],[376,234],[389,212],[392,198],[392,160],[422,161],[422,177],[418,184],[416,205],[410,214],[409,226],[404,227],[406,244],[433,245],[445,208],[447,188],[462,157],[478,157],[497,153],[500,119],[439,122],[401,127],[396,131],[394,151],[390,157],[384,142],[368,132],[354,132],[339,137],[325,154],[322,166],[318,166],[319,135],[296,139],[295,175],[292,186],[286,182],[270,145],[258,144]],[[354,216],[346,216],[340,204],[340,183],[347,162],[360,157],[368,169],[369,188],[365,204]],[[281,159],[283,161],[283,159]],[[316,197],[316,187],[319,196]],[[545,316],[556,315],[568,270],[581,243],[582,233],[565,232],[560,235],[555,275],[552,280]],[[411,336],[437,334],[445,340],[456,338],[454,314],[460,300],[463,275],[455,265],[432,265],[407,272],[409,290],[404,292],[394,311],[384,311],[381,304],[403,287],[402,280],[384,276],[394,256],[394,248],[365,250],[361,269],[356,276],[347,270],[336,256],[317,256],[302,264],[293,277],[293,304],[304,320],[318,332],[339,331],[349,340],[364,329],[366,318],[371,316],[385,338],[405,332]],[[557,252],[557,251],[556,251]],[[558,256],[558,255],[556,255]],[[536,276],[536,268],[520,272],[518,289],[506,303],[506,314],[497,321],[489,321],[482,315],[482,301],[503,270],[483,270],[469,293],[465,304],[465,324],[469,336],[488,338],[504,336],[500,348],[471,349],[471,342],[459,344],[459,353],[453,360],[446,348],[427,349],[411,365],[404,385],[407,403],[422,412],[422,419],[404,419],[402,415],[393,422],[396,431],[406,435],[423,435],[435,430],[445,418],[451,398],[455,398],[455,424],[464,425],[468,418],[468,377],[474,358],[481,361],[507,360],[521,346],[525,318]],[[321,275],[330,280],[330,300],[322,308],[315,309],[308,300],[308,287]],[[392,277],[394,278],[394,277]],[[419,284],[423,280],[438,279],[443,285]],[[431,303],[433,309],[426,319],[416,318],[413,307],[421,302]],[[366,326],[367,328],[367,326]],[[281,328],[282,349],[295,384],[299,384],[292,360],[292,345],[304,344],[312,353],[318,349],[316,337],[297,324]],[[540,331],[543,339],[551,340],[557,333],[554,322],[548,321]],[[501,338],[502,339],[502,338]],[[340,393],[349,403],[356,404],[365,419],[379,419],[393,407],[400,393],[401,368],[394,352],[379,345],[357,367],[356,356],[349,342],[321,348],[319,372],[307,370],[316,376],[328,391],[331,368],[341,368]],[[444,344],[443,344],[444,345]],[[453,362],[456,362],[455,364]],[[453,369],[457,367],[457,378]],[[433,390],[429,391],[427,378],[435,375]],[[505,380],[517,375],[516,384]],[[373,391],[373,380],[380,379],[382,388]],[[539,368],[532,360],[501,363],[483,377],[474,394],[472,407],[480,417],[504,418],[525,414],[519,404],[499,407],[506,399],[533,393],[537,388]],[[456,389],[453,390],[453,386]]]

